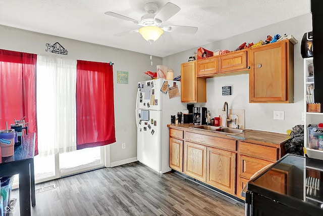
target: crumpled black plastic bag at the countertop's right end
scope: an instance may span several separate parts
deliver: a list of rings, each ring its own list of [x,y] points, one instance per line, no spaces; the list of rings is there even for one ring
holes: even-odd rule
[[[304,125],[296,125],[292,128],[291,138],[285,143],[286,153],[304,155]]]

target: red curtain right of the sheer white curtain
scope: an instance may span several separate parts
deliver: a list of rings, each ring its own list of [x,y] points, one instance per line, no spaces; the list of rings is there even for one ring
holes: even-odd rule
[[[115,134],[113,66],[109,63],[78,60],[77,149],[114,143]]]

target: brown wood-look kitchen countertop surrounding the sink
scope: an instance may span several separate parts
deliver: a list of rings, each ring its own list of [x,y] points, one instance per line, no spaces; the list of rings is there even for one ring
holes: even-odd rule
[[[277,147],[278,145],[285,143],[290,138],[290,136],[287,134],[258,131],[255,129],[246,129],[246,128],[244,128],[245,132],[241,134],[233,135],[234,137],[236,137],[236,138],[233,138],[233,137],[227,136],[227,134],[220,133],[220,132],[190,128],[195,126],[193,124],[168,124],[167,126],[169,128],[183,129],[185,131],[191,131],[197,134],[222,137],[222,138],[239,140],[243,142],[272,146],[272,147]]]

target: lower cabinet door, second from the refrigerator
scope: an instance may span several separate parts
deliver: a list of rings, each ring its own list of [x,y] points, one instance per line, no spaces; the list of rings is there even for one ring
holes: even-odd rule
[[[202,182],[206,181],[206,146],[185,142],[184,173]]]

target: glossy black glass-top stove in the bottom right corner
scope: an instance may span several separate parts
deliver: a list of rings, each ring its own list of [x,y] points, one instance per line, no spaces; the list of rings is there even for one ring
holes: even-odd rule
[[[288,154],[247,183],[246,215],[323,215],[323,160]]]

